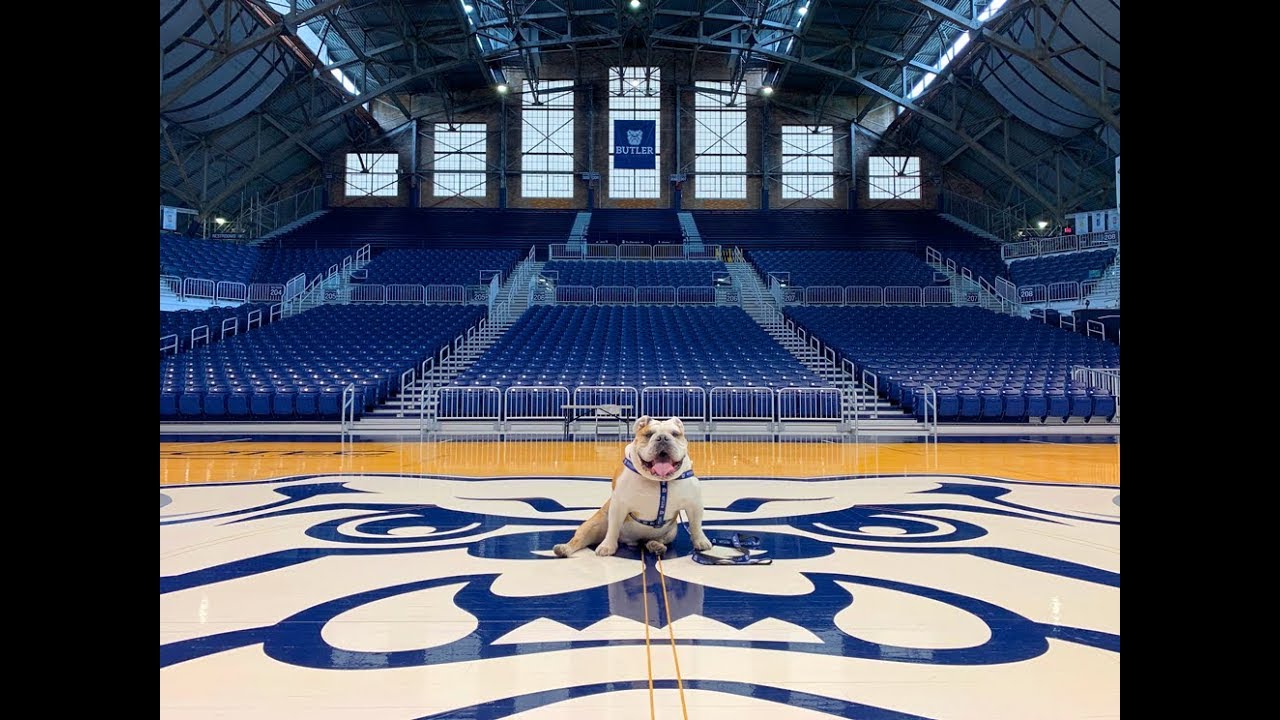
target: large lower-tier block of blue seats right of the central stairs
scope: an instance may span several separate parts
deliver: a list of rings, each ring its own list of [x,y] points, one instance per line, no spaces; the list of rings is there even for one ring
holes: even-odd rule
[[[879,393],[942,420],[1110,419],[1115,397],[1071,368],[1119,368],[1115,345],[977,307],[787,307],[797,325],[878,377]]]

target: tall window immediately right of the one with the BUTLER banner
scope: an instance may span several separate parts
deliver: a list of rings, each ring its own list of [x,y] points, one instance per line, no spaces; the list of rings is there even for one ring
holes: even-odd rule
[[[698,197],[746,197],[746,99],[728,82],[700,82],[694,100]]]

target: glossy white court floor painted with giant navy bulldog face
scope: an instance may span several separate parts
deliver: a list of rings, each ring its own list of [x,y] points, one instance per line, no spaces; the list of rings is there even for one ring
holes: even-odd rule
[[[552,556],[608,491],[163,486],[161,716],[1120,715],[1116,487],[705,478],[708,536],[772,564],[698,564],[684,528],[660,573],[625,547]]]

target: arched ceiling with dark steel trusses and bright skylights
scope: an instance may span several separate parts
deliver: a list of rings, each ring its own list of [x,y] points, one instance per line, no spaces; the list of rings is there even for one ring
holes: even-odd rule
[[[557,55],[644,50],[721,58],[817,115],[859,97],[870,135],[1029,213],[1114,186],[1117,0],[207,1],[161,3],[161,199],[200,208],[376,137],[375,97],[408,119],[407,95],[448,105]]]

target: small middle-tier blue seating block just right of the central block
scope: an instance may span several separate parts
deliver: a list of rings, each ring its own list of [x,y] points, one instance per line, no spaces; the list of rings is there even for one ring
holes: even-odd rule
[[[791,273],[792,287],[933,284],[933,268],[909,252],[860,250],[748,250],[762,277]]]

